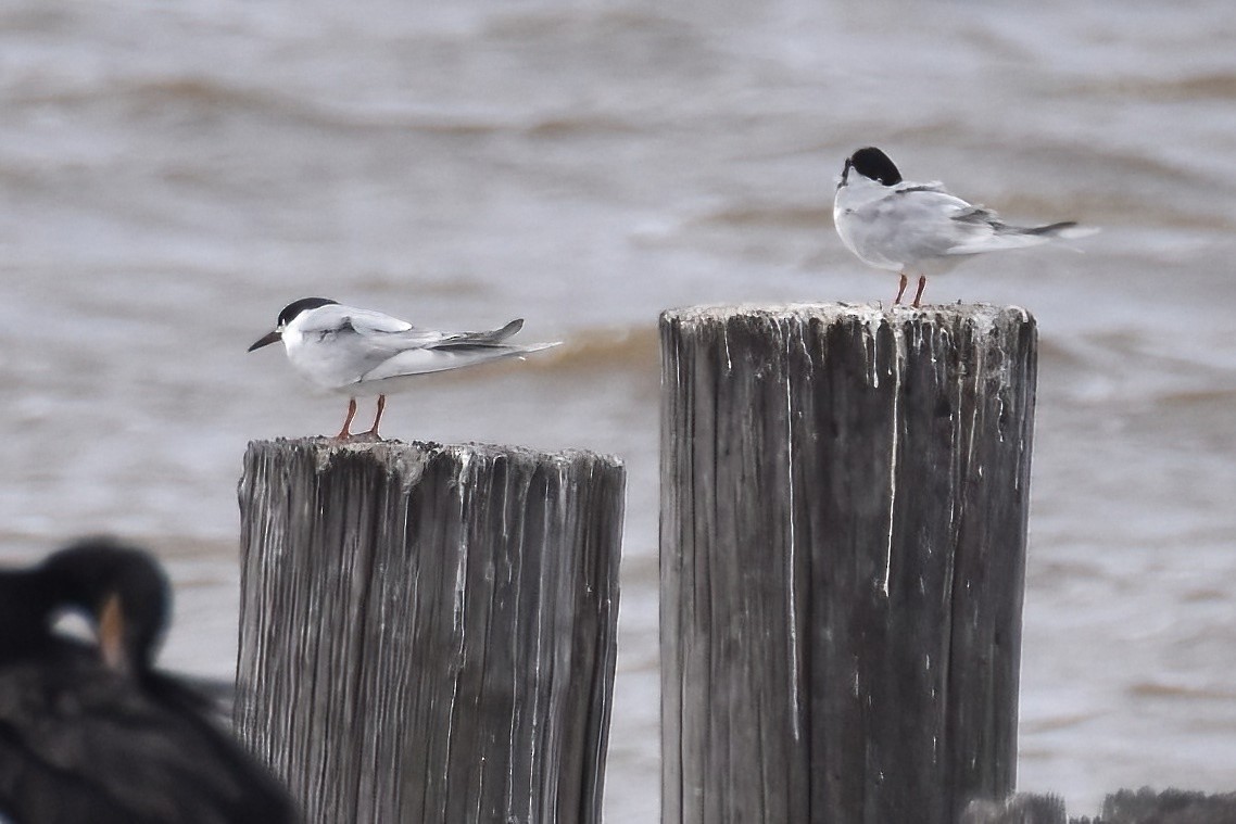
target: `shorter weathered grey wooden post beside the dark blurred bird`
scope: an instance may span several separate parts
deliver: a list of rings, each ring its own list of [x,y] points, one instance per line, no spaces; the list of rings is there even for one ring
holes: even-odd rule
[[[307,822],[599,822],[624,473],[250,444],[237,728]]]

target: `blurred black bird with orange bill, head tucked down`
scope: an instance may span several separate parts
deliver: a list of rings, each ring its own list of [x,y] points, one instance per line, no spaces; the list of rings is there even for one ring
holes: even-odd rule
[[[95,644],[54,631],[66,610]],[[162,568],[109,540],[0,572],[0,822],[298,820],[209,700],[153,668],[168,614]]]

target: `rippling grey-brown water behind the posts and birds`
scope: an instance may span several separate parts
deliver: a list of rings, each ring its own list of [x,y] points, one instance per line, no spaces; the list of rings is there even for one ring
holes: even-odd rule
[[[245,445],[346,403],[246,346],[305,295],[527,317],[565,345],[428,379],[383,429],[625,461],[606,808],[653,822],[656,315],[889,301],[831,211],[878,145],[1007,219],[1104,227],[926,293],[1039,322],[1021,788],[1073,814],[1236,789],[1236,7],[420,5],[0,2],[0,561],[156,547],[162,662],[230,677]]]

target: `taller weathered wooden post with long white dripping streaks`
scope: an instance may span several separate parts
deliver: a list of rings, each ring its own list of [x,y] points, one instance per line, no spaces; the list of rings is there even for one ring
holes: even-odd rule
[[[1014,784],[1020,309],[661,317],[662,822],[954,824]]]

